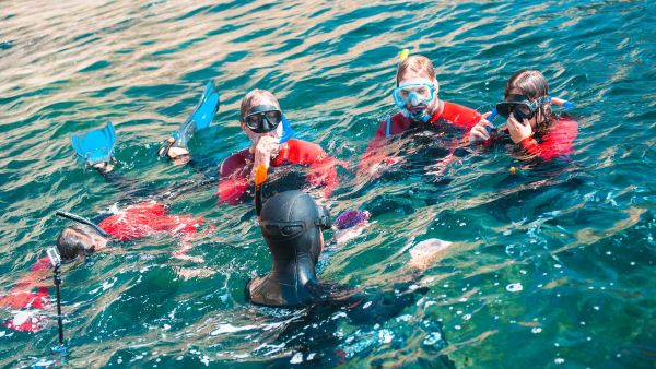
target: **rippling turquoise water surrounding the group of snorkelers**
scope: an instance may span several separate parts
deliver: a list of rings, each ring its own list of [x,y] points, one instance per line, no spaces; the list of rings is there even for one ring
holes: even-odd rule
[[[260,87],[301,139],[354,163],[395,110],[395,57],[407,47],[435,62],[442,98],[481,111],[517,69],[542,71],[553,95],[576,103],[572,163],[511,176],[517,163],[497,147],[467,150],[442,176],[429,154],[367,183],[340,169],[333,213],[363,207],[374,223],[321,278],[385,289],[409,273],[407,246],[454,242],[423,272],[427,294],[377,325],[246,303],[244,285],[269,266],[251,204],[216,206],[215,187],[186,194],[172,212],[216,226],[194,241],[203,262],[173,259],[179,240],[160,237],[67,265],[69,365],[277,367],[314,354],[306,365],[440,367],[447,355],[456,367],[653,368],[654,24],[646,1],[4,2],[2,291],[67,224],[55,210],[96,217],[126,204],[75,162],[71,133],[112,121],[125,177],[201,180],[154,154],[214,79],[221,111],[195,153],[220,163],[246,146],[238,104]],[[203,275],[181,277],[188,270]],[[448,344],[434,344],[436,322]],[[48,359],[56,340],[54,322],[0,329],[0,366]]]

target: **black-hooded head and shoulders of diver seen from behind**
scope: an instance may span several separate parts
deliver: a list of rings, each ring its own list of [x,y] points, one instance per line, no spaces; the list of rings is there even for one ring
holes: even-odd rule
[[[260,229],[273,263],[267,275],[248,282],[246,299],[281,308],[332,299],[332,288],[320,283],[315,272],[324,249],[323,230],[331,225],[328,210],[318,206],[307,193],[286,191],[267,200]]]

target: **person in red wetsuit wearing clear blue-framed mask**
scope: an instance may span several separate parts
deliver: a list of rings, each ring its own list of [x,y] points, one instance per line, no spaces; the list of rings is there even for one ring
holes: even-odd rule
[[[483,116],[476,110],[437,97],[440,85],[429,58],[411,56],[401,60],[396,81],[397,87],[393,97],[400,111],[380,121],[360,162],[361,171],[374,174],[380,164],[395,163],[395,157],[389,157],[383,152],[387,139],[410,129],[456,128],[467,138],[473,127],[484,127]]]

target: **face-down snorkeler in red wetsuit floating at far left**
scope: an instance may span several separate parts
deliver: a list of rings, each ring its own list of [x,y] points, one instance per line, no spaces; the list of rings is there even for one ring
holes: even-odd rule
[[[184,238],[195,235],[202,223],[203,219],[190,215],[167,214],[162,204],[144,202],[104,218],[98,227],[107,237],[90,225],[73,224],[61,230],[56,246],[62,260],[70,261],[107,248],[112,238],[128,241],[163,233],[181,236],[184,241]],[[183,246],[174,255],[186,259],[184,251],[187,249]],[[45,326],[47,319],[44,309],[50,307],[46,284],[49,273],[48,258],[40,258],[14,287],[0,295],[0,307],[14,310],[14,317],[4,322],[7,328],[37,332]]]

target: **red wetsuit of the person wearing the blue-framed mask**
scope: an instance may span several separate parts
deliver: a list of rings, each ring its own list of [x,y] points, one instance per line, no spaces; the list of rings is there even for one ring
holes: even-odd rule
[[[469,131],[481,120],[481,115],[466,106],[442,100],[442,107],[438,109],[429,123],[433,126],[450,124],[465,131],[464,141],[469,139]],[[379,148],[385,145],[386,139],[390,135],[400,134],[412,127],[412,119],[397,112],[386,120],[380,121],[376,134],[366,146],[360,169],[366,169],[374,163],[387,162],[386,154],[379,153]]]

